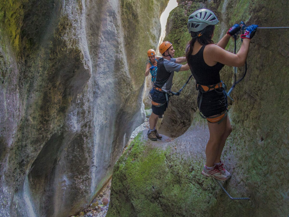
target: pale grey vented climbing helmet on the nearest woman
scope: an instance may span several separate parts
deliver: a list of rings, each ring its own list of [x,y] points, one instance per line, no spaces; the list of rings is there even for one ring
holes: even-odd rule
[[[188,30],[191,32],[201,32],[208,25],[216,25],[218,23],[216,15],[209,9],[196,10],[189,16]]]

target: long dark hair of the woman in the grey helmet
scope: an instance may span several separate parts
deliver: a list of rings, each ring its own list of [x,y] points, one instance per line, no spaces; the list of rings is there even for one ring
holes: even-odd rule
[[[214,25],[206,26],[203,34],[200,37],[194,38],[195,36],[199,34],[199,32],[191,32],[192,39],[188,43],[187,49],[186,49],[186,59],[189,65],[190,63],[188,60],[189,60],[191,53],[193,52],[194,43],[198,41],[201,45],[214,44],[214,41],[212,40],[213,32],[214,32]]]

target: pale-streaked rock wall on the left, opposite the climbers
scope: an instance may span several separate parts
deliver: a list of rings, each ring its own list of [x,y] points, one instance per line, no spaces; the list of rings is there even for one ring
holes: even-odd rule
[[[76,214],[112,175],[167,2],[0,2],[0,216]]]

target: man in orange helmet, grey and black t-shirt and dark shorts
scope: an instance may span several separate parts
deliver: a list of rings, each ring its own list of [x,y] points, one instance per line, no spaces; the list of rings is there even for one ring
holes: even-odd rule
[[[158,73],[155,80],[154,88],[151,90],[152,113],[149,117],[149,139],[156,141],[162,139],[155,129],[159,115],[163,115],[168,104],[168,93],[171,92],[174,72],[189,70],[188,64],[181,65],[179,63],[186,62],[186,57],[173,58],[175,50],[172,43],[164,41],[159,47],[162,57],[158,60]]]

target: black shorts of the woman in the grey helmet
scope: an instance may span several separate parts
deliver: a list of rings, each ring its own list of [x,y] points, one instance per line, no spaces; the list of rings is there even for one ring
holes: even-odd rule
[[[200,99],[202,95],[203,97],[200,108]],[[199,91],[197,104],[201,113],[205,117],[218,115],[225,111],[228,107],[227,95],[225,94],[223,88],[217,88],[206,93]]]

